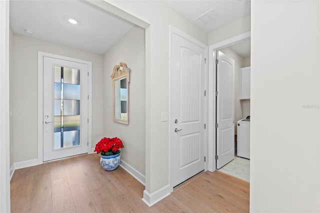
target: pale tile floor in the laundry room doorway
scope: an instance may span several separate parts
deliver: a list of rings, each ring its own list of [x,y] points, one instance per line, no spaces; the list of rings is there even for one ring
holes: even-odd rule
[[[245,181],[250,181],[250,160],[234,156],[234,159],[218,169],[221,172],[238,177]]]

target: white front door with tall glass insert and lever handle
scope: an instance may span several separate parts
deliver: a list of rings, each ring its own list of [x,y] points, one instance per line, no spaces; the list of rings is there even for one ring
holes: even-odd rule
[[[43,56],[43,161],[87,146],[88,64]]]

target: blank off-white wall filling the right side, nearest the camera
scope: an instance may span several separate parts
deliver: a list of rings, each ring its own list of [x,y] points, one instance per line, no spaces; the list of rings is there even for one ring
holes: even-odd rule
[[[320,212],[319,1],[251,1],[251,212]]]

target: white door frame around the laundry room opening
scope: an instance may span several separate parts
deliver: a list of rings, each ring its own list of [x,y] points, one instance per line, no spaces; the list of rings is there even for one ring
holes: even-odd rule
[[[208,53],[208,63],[209,63],[209,72],[208,72],[208,165],[207,169],[209,171],[216,170],[216,161],[215,161],[215,63],[214,63],[214,51],[221,49],[223,47],[230,46],[232,44],[248,40],[251,38],[251,31],[247,31],[236,36],[230,37],[228,39],[219,41],[215,44],[209,45],[209,53]],[[212,109],[212,110],[211,110]]]

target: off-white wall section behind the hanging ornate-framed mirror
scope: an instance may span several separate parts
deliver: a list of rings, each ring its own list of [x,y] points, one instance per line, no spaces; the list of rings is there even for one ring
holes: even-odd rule
[[[103,55],[103,136],[119,137],[124,148],[121,160],[145,175],[145,39],[144,29],[133,27]],[[129,124],[113,121],[112,74],[114,65],[125,62],[130,71]]]

